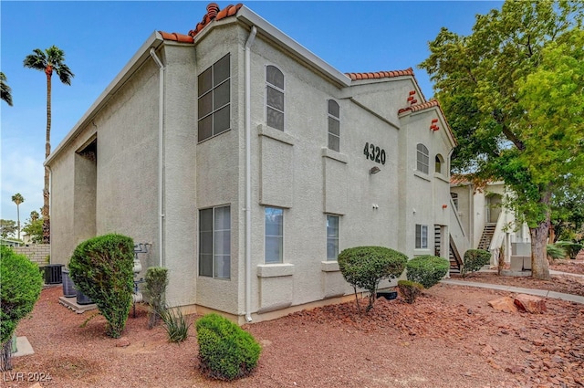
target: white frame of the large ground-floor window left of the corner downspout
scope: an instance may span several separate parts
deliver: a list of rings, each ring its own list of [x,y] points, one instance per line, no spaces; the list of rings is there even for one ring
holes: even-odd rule
[[[217,209],[225,209],[228,208],[229,209],[229,229],[218,229],[216,225],[216,210]],[[205,211],[211,211],[212,212],[212,218],[211,218],[211,222],[212,225],[210,228],[208,229],[203,229],[203,226],[208,226],[208,225],[203,225],[202,222],[202,217],[201,217],[201,213],[205,212]],[[212,270],[211,270],[211,275],[203,275],[202,274],[202,266],[203,266],[203,255],[209,255],[209,253],[203,253],[202,249],[203,249],[203,233],[212,233],[212,237],[211,237],[211,244],[212,244],[212,252],[211,252],[211,266],[212,266]],[[217,249],[217,241],[215,241],[215,239],[217,238],[217,235],[221,233],[228,233],[229,235],[229,241],[227,246],[229,247],[229,252],[228,253],[224,253],[224,252],[219,252],[219,249]],[[200,277],[204,277],[204,278],[221,278],[221,279],[230,279],[231,278],[231,205],[226,204],[226,205],[222,205],[222,206],[214,206],[214,207],[210,207],[210,208],[206,208],[206,209],[199,209],[199,253],[198,253],[198,259],[199,259],[199,265],[198,265],[198,271],[199,271],[199,276]],[[220,267],[223,266],[219,266],[219,258],[224,258],[227,257],[227,264],[224,267],[224,269],[226,269],[227,274],[225,276],[225,274],[221,274],[219,273],[219,269]]]

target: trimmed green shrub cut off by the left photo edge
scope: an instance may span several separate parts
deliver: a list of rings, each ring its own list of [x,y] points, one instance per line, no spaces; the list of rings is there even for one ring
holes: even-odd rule
[[[12,369],[12,336],[19,320],[30,313],[43,288],[43,277],[36,263],[18,255],[8,246],[0,246],[0,370]]]

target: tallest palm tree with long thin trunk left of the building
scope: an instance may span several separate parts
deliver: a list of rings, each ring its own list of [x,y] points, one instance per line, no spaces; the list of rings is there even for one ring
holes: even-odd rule
[[[44,71],[47,75],[47,143],[45,144],[45,159],[51,153],[51,77],[53,71],[57,73],[62,83],[71,85],[71,79],[75,74],[65,64],[65,52],[57,46],[51,46],[42,51],[40,48],[33,50],[34,54],[26,56],[25,68],[34,68]],[[50,220],[48,217],[48,169],[45,167],[45,187],[43,189],[43,243],[50,243]]]

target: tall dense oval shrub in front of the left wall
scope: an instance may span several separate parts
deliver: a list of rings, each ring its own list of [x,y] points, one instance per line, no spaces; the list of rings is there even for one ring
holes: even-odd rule
[[[69,262],[73,283],[98,306],[108,321],[106,334],[112,338],[120,337],[130,314],[133,263],[133,240],[116,234],[82,242]]]

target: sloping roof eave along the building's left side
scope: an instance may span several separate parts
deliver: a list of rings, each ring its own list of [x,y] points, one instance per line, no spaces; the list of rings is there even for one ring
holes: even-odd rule
[[[57,157],[57,155],[68,146],[70,142],[72,142],[77,136],[80,131],[82,131],[89,123],[98,115],[99,110],[101,110],[109,100],[116,94],[116,92],[122,87],[124,83],[132,74],[141,67],[141,65],[150,58],[150,49],[151,48],[158,48],[163,43],[163,38],[161,34],[157,31],[154,31],[148,39],[142,44],[142,46],[136,51],[136,54],[130,61],[121,69],[120,73],[110,82],[110,85],[103,92],[99,95],[98,99],[93,102],[89,110],[85,112],[83,117],[75,124],[75,126],[68,132],[67,136],[59,142],[57,147],[53,150],[53,152],[48,155],[47,160],[45,160],[44,165],[50,165],[51,162]]]

